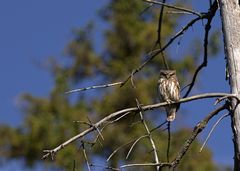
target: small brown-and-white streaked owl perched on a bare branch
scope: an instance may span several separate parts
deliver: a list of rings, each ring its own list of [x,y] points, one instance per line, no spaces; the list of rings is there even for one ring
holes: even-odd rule
[[[161,70],[158,80],[158,96],[161,102],[177,102],[180,99],[180,86],[175,70]],[[175,119],[178,104],[170,104],[165,107],[167,121]]]

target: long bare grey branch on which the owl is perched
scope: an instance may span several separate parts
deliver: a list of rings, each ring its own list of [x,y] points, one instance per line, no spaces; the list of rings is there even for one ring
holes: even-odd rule
[[[206,93],[206,94],[200,94],[200,95],[195,95],[195,96],[191,96],[191,97],[187,97],[187,98],[183,98],[180,99],[179,102],[174,102],[171,104],[178,104],[178,103],[186,103],[188,101],[193,101],[193,100],[197,100],[197,99],[204,99],[204,98],[214,98],[214,97],[223,97],[223,96],[229,96],[232,95],[234,96],[234,98],[237,98],[237,95],[234,94],[228,94],[228,93]],[[159,107],[163,107],[163,106],[167,106],[170,105],[167,102],[163,102],[163,103],[156,103],[156,104],[151,104],[151,105],[146,105],[146,106],[142,106],[142,110],[143,111],[147,111],[147,110],[153,110]],[[137,112],[139,111],[139,109],[137,107],[131,107],[131,108],[126,108],[123,110],[119,110],[117,112],[111,113],[108,116],[104,117],[103,119],[101,119],[100,121],[98,121],[97,123],[95,123],[95,127],[101,127],[104,124],[109,123],[109,121],[111,121],[114,118],[118,118],[121,117],[122,115],[126,115],[126,113],[130,114],[132,112]],[[70,143],[74,142],[75,140],[82,138],[83,136],[93,132],[95,130],[95,127],[90,127],[86,130],[84,130],[83,132],[75,135],[74,137],[68,139],[67,141],[65,141],[64,143],[60,144],[59,146],[57,146],[56,148],[52,149],[52,150],[44,150],[43,152],[46,153],[43,155],[43,159],[46,159],[47,157],[51,156],[52,158],[54,158],[54,155],[61,149],[63,149],[64,147],[66,147],[67,145],[69,145]]]

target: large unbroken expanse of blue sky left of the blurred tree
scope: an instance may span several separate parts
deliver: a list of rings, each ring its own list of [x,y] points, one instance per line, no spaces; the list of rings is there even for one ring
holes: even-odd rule
[[[101,4],[88,1],[0,2],[0,92],[4,99],[0,123],[19,123],[22,116],[16,105],[21,93],[48,94],[51,77],[37,63],[49,56],[63,56],[65,46],[73,37],[73,29],[96,20],[98,6]]]

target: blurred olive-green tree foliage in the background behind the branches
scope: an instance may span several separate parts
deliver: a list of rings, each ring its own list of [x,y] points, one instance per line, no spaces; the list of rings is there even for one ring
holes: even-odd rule
[[[110,1],[100,12],[102,19],[110,24],[105,31],[102,53],[98,54],[93,46],[92,37],[94,24],[90,23],[78,30],[76,37],[66,48],[68,65],[52,62],[52,73],[55,85],[47,98],[34,97],[29,94],[22,96],[25,119],[23,125],[17,129],[0,128],[0,153],[5,157],[24,157],[29,164],[41,158],[44,149],[53,148],[73,135],[87,128],[87,125],[73,121],[96,122],[109,113],[126,107],[136,106],[135,99],[140,103],[150,104],[156,101],[156,83],[158,71],[163,68],[161,56],[147,65],[134,77],[136,89],[131,83],[122,88],[110,88],[95,91],[93,97],[88,98],[87,92],[79,95],[72,103],[70,98],[63,95],[71,86],[81,85],[83,81],[102,79],[103,81],[123,80],[133,69],[146,59],[147,54],[155,44],[157,37],[159,9],[150,8],[140,16],[146,7],[138,0]],[[166,42],[178,24],[178,18],[164,19],[162,42]],[[215,39],[214,39],[215,40]],[[213,48],[215,49],[215,48]],[[214,51],[215,52],[215,51]],[[177,70],[182,85],[186,83],[186,76],[194,72],[195,60],[191,55],[173,60],[168,53],[166,56],[170,66]],[[153,128],[161,123],[158,112],[146,114],[148,125]],[[156,116],[158,115],[158,116]],[[86,145],[91,158],[99,156],[106,159],[117,147],[144,135],[138,114],[132,114],[103,131],[104,140]],[[174,123],[173,123],[174,124]],[[187,129],[175,131],[172,135],[170,158],[173,159],[190,131]],[[93,141],[96,133],[84,137],[83,141]],[[160,159],[166,161],[167,134],[156,131],[153,135]],[[56,156],[56,164],[70,170],[73,160],[76,168],[83,169],[84,158],[79,150],[81,142],[67,146]],[[151,146],[147,138],[141,140],[133,149],[129,159],[125,161],[130,146],[119,150],[110,164],[119,165],[122,162],[153,161]],[[214,170],[215,166],[208,149],[198,153],[199,143],[195,142],[186,154],[177,170]],[[146,168],[147,170],[148,168]],[[152,168],[149,168],[150,170]],[[135,169],[138,170],[138,169]],[[145,169],[144,169],[145,170]]]

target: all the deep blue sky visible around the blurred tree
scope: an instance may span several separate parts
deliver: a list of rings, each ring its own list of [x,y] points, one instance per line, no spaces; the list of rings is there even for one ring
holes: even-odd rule
[[[96,9],[104,1],[88,0],[8,0],[0,2],[0,78],[1,103],[0,124],[17,126],[21,123],[23,114],[19,108],[18,97],[24,92],[37,96],[47,96],[52,87],[51,75],[40,68],[37,63],[43,62],[49,56],[64,55],[64,48],[73,38],[72,30],[83,27],[89,20],[96,21],[96,31],[100,32],[104,24],[99,22]],[[208,4],[208,2],[206,2]],[[203,3],[202,3],[203,4]],[[194,6],[197,9],[196,4]],[[198,25],[199,27],[200,24]],[[197,26],[195,26],[196,28]],[[219,14],[213,27],[220,28]],[[201,32],[200,32],[201,33]],[[191,34],[199,34],[196,29],[189,31],[182,40],[182,46],[189,45]],[[200,34],[201,35],[201,34]],[[101,43],[98,33],[97,42]],[[221,39],[220,39],[221,40]],[[179,52],[181,54],[181,51]],[[208,67],[201,72],[199,87],[194,94],[202,92],[228,92],[228,84],[224,81],[223,51],[212,58]],[[214,109],[214,101],[200,101],[183,105],[182,112],[186,116],[179,118],[176,125],[193,126],[208,112]],[[181,122],[181,123],[180,123]],[[214,123],[214,122],[212,122]],[[204,140],[208,131],[204,131]],[[233,146],[230,120],[225,119],[214,131],[208,146],[213,150],[217,163],[232,164]],[[6,169],[7,170],[7,169]]]

